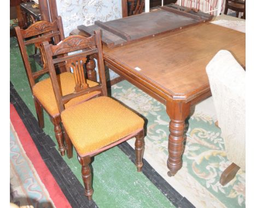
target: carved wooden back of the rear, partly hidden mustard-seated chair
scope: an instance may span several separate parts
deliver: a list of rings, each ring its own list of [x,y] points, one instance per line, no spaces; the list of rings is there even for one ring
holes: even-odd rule
[[[19,26],[17,26],[15,27],[15,31],[28,81],[30,82],[30,88],[32,89],[36,83],[35,79],[40,75],[49,72],[48,66],[45,63],[45,54],[40,44],[42,44],[42,42],[45,40],[51,41],[53,38],[55,43],[58,43],[60,40],[64,39],[62,20],[60,16],[57,16],[57,19],[54,22],[38,21],[33,23],[27,29],[21,29]],[[33,72],[31,69],[26,50],[26,46],[30,44],[34,44],[35,47],[39,48],[42,56],[43,68],[36,72]]]

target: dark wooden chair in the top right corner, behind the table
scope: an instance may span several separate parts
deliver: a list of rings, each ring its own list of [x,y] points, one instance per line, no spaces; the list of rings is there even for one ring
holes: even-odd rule
[[[242,19],[246,19],[246,0],[226,0],[224,14],[228,13],[228,9],[231,9],[236,12],[236,17],[239,16],[239,13],[243,13]]]

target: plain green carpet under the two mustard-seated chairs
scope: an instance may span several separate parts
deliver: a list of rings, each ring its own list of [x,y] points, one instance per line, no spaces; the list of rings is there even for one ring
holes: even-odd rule
[[[33,52],[33,48],[28,48]],[[36,63],[33,63],[38,68]],[[36,117],[34,102],[26,72],[15,38],[10,38],[10,81]],[[53,124],[44,113],[44,132],[57,144]],[[74,156],[63,157],[78,180],[83,184],[80,164]],[[99,207],[174,207],[172,203],[142,173],[119,148],[115,147],[95,157],[93,168],[93,199]]]

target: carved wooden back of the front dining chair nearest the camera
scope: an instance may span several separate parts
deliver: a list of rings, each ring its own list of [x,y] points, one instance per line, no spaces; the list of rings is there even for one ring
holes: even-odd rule
[[[59,111],[62,112],[65,107],[64,104],[74,97],[82,96],[91,93],[92,91],[101,91],[101,95],[107,96],[107,83],[104,70],[101,31],[97,30],[94,35],[85,38],[80,35],[72,35],[62,40],[57,45],[51,45],[48,41],[43,42],[46,62],[49,67],[51,83],[53,84],[54,94],[57,101]],[[75,52],[72,53],[71,52]],[[58,55],[66,54],[66,56],[57,57]],[[86,83],[84,72],[84,64],[87,56],[94,56],[97,58],[98,73],[100,77],[100,84],[95,87],[89,87]],[[65,63],[67,69],[73,70],[75,86],[74,93],[65,96],[61,95],[60,85],[57,81],[54,64]]]

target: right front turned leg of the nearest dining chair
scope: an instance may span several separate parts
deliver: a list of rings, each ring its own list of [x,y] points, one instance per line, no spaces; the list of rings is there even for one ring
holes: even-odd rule
[[[135,140],[135,155],[136,155],[136,167],[137,172],[141,172],[143,166],[143,152],[144,152],[144,130],[140,131]]]

